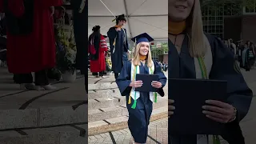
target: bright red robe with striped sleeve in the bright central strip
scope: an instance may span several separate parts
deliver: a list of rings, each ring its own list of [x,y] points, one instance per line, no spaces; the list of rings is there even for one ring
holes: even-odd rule
[[[101,40],[98,48],[98,59],[96,61],[90,60],[90,71],[92,73],[106,70],[105,51],[107,51],[106,39],[101,34]]]

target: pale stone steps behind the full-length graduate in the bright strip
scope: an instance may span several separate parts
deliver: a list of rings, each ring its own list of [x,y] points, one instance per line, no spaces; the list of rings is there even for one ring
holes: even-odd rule
[[[88,82],[88,135],[127,128],[126,97],[121,96],[114,76],[94,78],[89,75]],[[167,87],[164,88],[166,95]],[[158,96],[158,102],[153,106],[150,121],[168,116],[167,96]]]

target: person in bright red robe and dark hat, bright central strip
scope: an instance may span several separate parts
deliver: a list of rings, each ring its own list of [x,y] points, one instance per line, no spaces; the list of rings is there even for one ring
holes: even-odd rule
[[[96,78],[104,77],[106,70],[105,53],[107,51],[106,38],[100,34],[100,26],[94,26],[94,32],[90,34],[89,42],[93,42],[95,54],[90,54],[90,72],[94,73]]]

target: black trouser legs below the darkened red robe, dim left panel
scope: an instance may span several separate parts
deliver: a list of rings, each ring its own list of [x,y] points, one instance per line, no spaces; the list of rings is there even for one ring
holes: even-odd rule
[[[29,74],[14,74],[14,82],[18,84],[22,83],[33,83],[33,76]],[[36,86],[46,86],[49,85],[46,70],[41,70],[34,73],[34,84]]]

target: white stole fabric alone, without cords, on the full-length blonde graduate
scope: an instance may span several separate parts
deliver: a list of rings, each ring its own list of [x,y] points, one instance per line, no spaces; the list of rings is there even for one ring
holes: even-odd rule
[[[137,74],[139,73],[139,66],[134,66],[133,63],[131,63],[131,69],[130,69],[130,81],[133,82],[136,80],[136,74],[134,75],[134,72],[136,72],[136,70],[134,70],[135,68],[137,68]],[[152,62],[152,74],[154,74],[154,62]],[[151,70],[149,67],[149,73],[151,74]],[[134,78],[135,77],[135,78]],[[133,87],[130,91],[130,96],[131,98],[133,98],[135,100],[135,88]],[[140,97],[140,93],[139,91],[136,91],[136,100]],[[154,102],[154,93],[150,92],[150,101]]]

